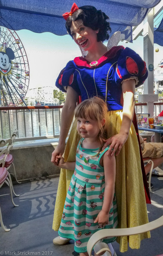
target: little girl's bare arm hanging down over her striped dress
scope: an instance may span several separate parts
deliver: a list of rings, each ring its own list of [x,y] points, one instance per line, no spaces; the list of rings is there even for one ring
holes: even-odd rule
[[[112,206],[115,188],[115,173],[116,173],[116,163],[115,156],[108,156],[107,152],[104,154],[103,158],[104,165],[104,175],[105,175],[105,191],[104,191],[104,202],[101,212],[97,215],[94,223],[99,223],[101,225],[106,225],[109,222],[109,211]]]

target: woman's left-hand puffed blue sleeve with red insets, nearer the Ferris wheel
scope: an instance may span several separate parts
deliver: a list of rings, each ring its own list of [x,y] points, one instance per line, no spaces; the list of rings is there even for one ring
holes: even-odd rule
[[[71,86],[79,95],[81,95],[73,61],[67,63],[66,67],[61,70],[56,80],[56,87],[59,88],[59,90],[66,92],[67,86]]]

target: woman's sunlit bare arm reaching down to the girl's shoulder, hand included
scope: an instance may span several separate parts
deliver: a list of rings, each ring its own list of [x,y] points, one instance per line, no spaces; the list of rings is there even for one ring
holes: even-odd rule
[[[135,107],[135,80],[130,79],[122,83],[122,94],[124,99],[123,105],[123,117],[120,132],[111,138],[106,140],[102,149],[105,149],[110,144],[107,154],[113,156],[116,152],[116,156],[119,154],[122,146],[127,141],[129,136],[129,130],[131,128],[132,119],[134,115]],[[113,149],[113,150],[112,150]]]

